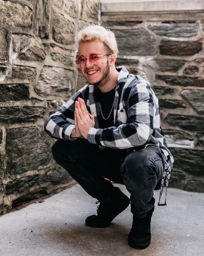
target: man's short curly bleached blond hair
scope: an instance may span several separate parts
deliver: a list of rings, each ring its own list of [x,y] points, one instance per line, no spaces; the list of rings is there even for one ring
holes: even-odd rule
[[[98,25],[89,25],[78,32],[78,45],[88,42],[102,42],[108,54],[115,54],[117,57],[118,46],[115,34],[110,29]]]

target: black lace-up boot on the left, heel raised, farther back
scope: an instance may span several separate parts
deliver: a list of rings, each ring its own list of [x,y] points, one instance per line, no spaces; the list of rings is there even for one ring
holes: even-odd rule
[[[86,225],[89,227],[109,226],[111,221],[129,206],[129,203],[130,199],[119,188],[115,187],[115,193],[111,202],[101,202],[97,209],[98,215],[87,217]]]

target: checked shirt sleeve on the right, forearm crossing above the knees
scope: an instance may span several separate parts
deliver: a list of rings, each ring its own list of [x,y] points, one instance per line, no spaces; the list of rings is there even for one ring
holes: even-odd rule
[[[91,128],[88,134],[90,143],[125,149],[140,147],[150,141],[158,100],[149,83],[143,81],[135,84],[130,90],[127,111],[121,113],[126,115],[126,122],[118,127]],[[117,118],[122,119],[119,115]]]

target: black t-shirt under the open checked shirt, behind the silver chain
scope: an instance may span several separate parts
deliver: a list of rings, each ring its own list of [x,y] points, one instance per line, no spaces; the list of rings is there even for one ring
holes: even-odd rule
[[[114,97],[115,97],[115,88],[107,93],[102,93],[100,91],[100,102],[101,102],[101,108],[102,108],[104,118],[107,118],[110,114],[110,110],[113,106]],[[107,120],[104,120],[103,117],[101,116],[101,126],[102,126],[101,128],[108,128],[114,125],[113,112],[114,111],[112,110],[111,115]]]

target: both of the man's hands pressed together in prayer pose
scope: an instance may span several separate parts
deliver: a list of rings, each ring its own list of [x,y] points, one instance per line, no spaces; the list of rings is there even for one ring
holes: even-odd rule
[[[74,125],[75,129],[71,132],[71,138],[83,136],[85,139],[88,139],[89,130],[95,125],[94,116],[89,113],[82,98],[75,101]]]

